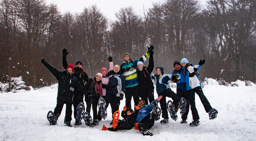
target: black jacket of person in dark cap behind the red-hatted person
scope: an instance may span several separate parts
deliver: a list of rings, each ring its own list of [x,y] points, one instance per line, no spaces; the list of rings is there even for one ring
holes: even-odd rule
[[[66,57],[62,57],[62,66],[64,69],[67,68],[68,64],[67,64],[67,58]],[[83,71],[82,68],[79,67],[74,67],[74,75],[77,77],[77,79],[79,80],[79,82],[84,86],[85,82],[88,82],[88,75]]]

